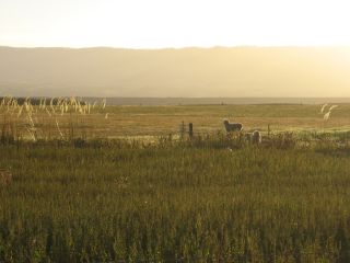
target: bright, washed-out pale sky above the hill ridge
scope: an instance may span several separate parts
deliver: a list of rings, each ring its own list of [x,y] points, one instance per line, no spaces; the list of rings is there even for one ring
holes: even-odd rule
[[[1,0],[0,46],[350,45],[346,0]]]

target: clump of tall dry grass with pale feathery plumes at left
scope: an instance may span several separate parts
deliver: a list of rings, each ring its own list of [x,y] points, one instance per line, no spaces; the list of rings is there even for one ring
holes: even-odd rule
[[[55,139],[72,140],[86,137],[90,116],[95,117],[106,113],[106,99],[91,105],[75,98],[40,99],[26,98],[23,102],[14,98],[3,98],[0,101],[0,127],[2,140]],[[98,113],[98,114],[97,114]],[[95,121],[94,121],[95,122]],[[90,130],[90,129],[89,129]]]

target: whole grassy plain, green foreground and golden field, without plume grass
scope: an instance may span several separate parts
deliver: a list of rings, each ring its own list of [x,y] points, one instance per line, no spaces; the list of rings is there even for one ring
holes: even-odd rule
[[[107,106],[84,118],[89,140],[2,142],[0,262],[350,262],[350,105],[319,110]],[[223,117],[272,134],[228,138]],[[97,139],[182,121],[210,136]]]

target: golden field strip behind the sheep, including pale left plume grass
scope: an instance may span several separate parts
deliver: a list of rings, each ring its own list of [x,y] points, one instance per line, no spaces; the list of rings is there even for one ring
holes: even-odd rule
[[[1,139],[116,138],[164,136],[194,124],[194,133],[225,132],[223,119],[245,132],[346,132],[350,104],[108,106],[77,98],[0,99]],[[323,111],[322,111],[323,110]],[[330,113],[331,112],[331,113]],[[328,114],[329,113],[329,114]]]

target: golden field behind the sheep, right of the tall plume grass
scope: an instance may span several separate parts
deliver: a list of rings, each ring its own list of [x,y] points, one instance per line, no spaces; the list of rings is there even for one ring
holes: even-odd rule
[[[198,133],[224,130],[228,117],[249,129],[310,130],[350,129],[350,104],[336,108],[324,122],[320,105],[186,105],[186,106],[110,106],[107,122],[93,115],[105,136],[167,135],[178,133],[185,123],[194,123]]]

